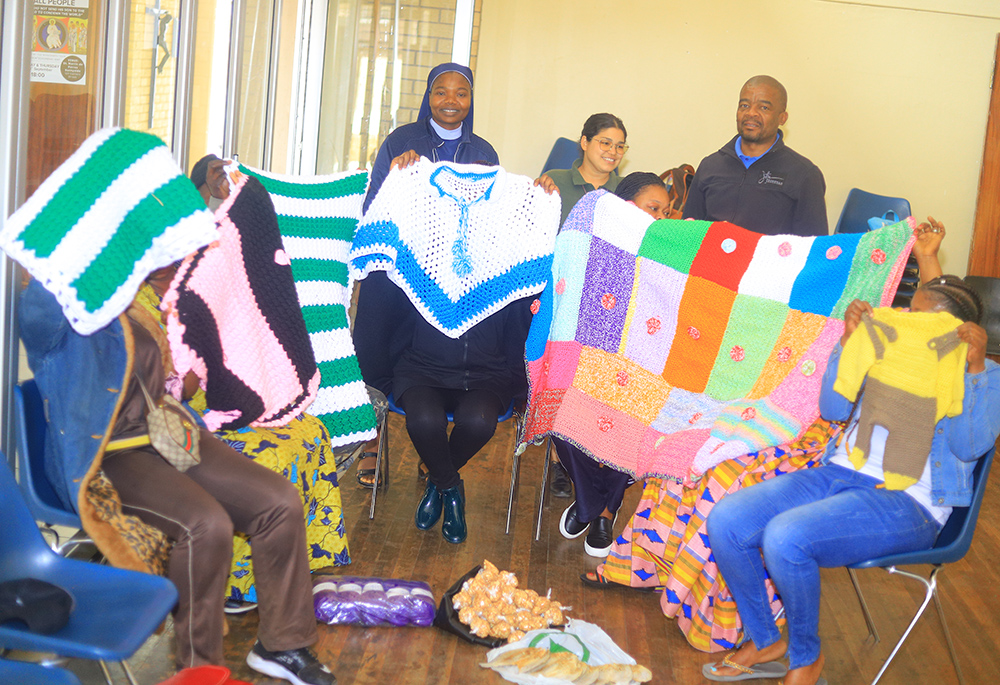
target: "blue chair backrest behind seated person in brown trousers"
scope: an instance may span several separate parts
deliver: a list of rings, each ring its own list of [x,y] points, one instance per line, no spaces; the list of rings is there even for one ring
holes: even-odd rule
[[[42,395],[33,380],[14,388],[14,427],[21,492],[31,513],[45,523],[79,528],[79,516],[66,510],[45,474],[48,421]]]

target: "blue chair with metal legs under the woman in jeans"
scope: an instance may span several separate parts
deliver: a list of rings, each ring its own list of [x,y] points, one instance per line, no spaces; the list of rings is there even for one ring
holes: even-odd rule
[[[952,663],[955,664],[955,673],[958,674],[958,681],[964,685],[965,679],[962,677],[962,668],[958,664],[958,655],[955,654],[955,645],[952,643],[948,624],[944,620],[944,608],[941,606],[941,598],[937,591],[937,576],[941,572],[941,569],[944,568],[944,564],[951,564],[958,561],[969,551],[969,546],[972,544],[972,534],[976,530],[976,521],[979,518],[979,507],[983,502],[983,494],[986,492],[986,481],[990,474],[990,466],[993,464],[993,454],[995,451],[996,447],[990,449],[976,464],[976,468],[973,471],[972,504],[968,507],[955,507],[952,510],[948,522],[941,529],[941,533],[938,535],[937,542],[934,543],[933,547],[917,552],[890,554],[848,567],[848,572],[851,574],[851,582],[854,583],[854,589],[858,593],[858,601],[861,603],[861,610],[865,615],[865,622],[868,624],[869,636],[874,639],[875,643],[879,641],[878,631],[875,630],[875,622],[868,611],[868,604],[861,593],[861,586],[858,584],[854,569],[884,568],[889,573],[898,573],[907,578],[920,581],[927,589],[920,608],[914,614],[910,625],[906,627],[903,636],[899,638],[899,642],[893,647],[889,658],[882,664],[882,668],[875,676],[875,680],[872,681],[872,685],[875,685],[882,677],[882,674],[885,673],[885,669],[889,667],[893,657],[896,656],[896,652],[903,646],[903,642],[909,636],[910,631],[913,630],[913,626],[916,625],[917,621],[923,615],[924,609],[927,608],[932,598],[934,599],[934,605],[937,607],[938,616],[941,618],[941,628],[944,632],[945,641],[948,643],[948,651],[951,652]],[[931,570],[930,577],[925,579],[923,576],[896,568],[903,564],[931,564],[934,568]]]

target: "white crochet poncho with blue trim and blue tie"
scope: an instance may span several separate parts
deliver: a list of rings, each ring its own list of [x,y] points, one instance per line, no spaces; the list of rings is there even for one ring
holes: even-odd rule
[[[541,292],[560,215],[559,197],[527,176],[422,157],[386,177],[358,226],[351,273],[387,271],[428,323],[458,338]]]

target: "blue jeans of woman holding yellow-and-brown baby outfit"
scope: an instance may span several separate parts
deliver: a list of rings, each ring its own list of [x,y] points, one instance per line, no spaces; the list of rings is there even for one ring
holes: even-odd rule
[[[734,492],[708,516],[712,554],[758,649],[781,639],[764,587],[770,573],[785,605],[789,668],[819,658],[820,567],[928,549],[937,538],[937,522],[916,500],[877,484],[818,466]]]

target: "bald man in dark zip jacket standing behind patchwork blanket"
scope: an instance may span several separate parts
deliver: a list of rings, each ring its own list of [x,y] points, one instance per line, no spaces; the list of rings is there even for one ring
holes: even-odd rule
[[[777,235],[826,235],[826,182],[808,159],[785,145],[785,87],[770,76],[743,85],[735,138],[702,160],[684,205],[685,219],[729,221]]]

